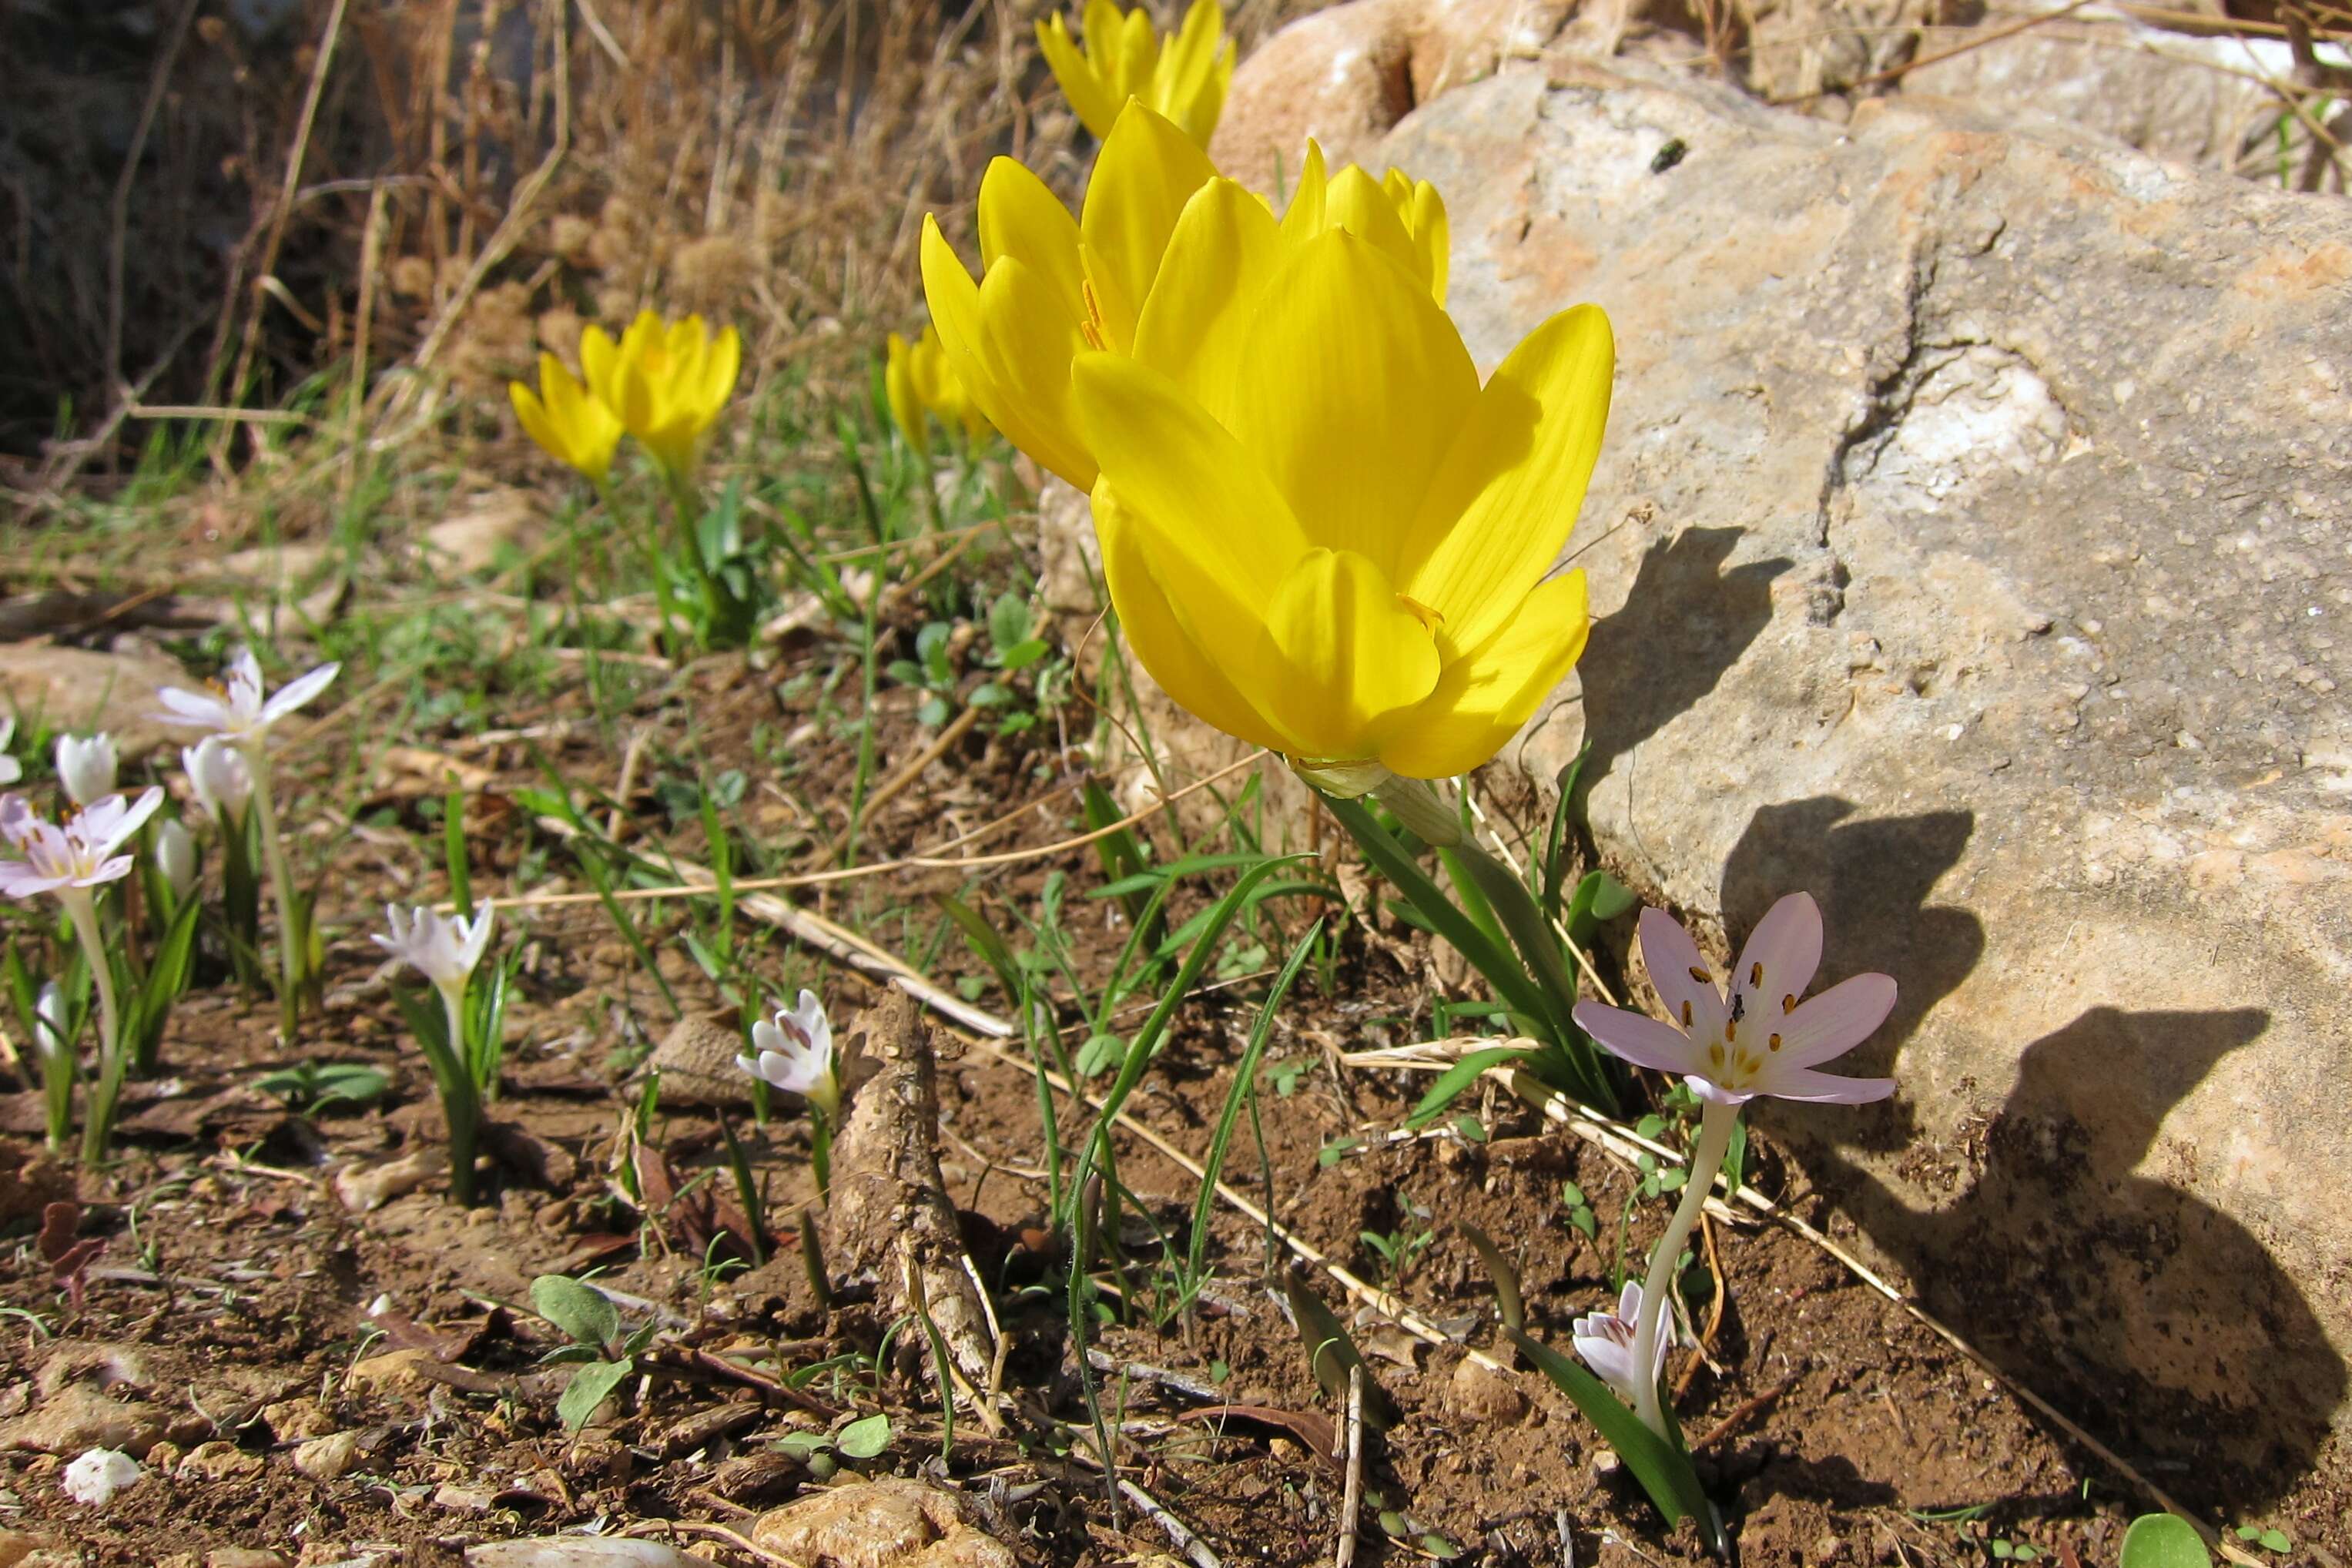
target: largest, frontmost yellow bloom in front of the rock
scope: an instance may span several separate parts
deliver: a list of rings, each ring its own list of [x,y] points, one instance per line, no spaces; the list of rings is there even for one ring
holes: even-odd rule
[[[1479,766],[1585,644],[1583,574],[1548,574],[1599,454],[1609,320],[1550,317],[1482,388],[1425,284],[1345,228],[1287,240],[1218,179],[1134,353],[1073,369],[1136,656],[1345,792]]]

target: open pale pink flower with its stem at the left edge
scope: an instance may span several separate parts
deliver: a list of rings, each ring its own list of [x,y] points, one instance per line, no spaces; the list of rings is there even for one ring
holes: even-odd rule
[[[21,795],[0,797],[0,842],[16,856],[0,860],[0,893],[9,898],[54,896],[66,907],[66,919],[73,924],[73,936],[89,966],[89,980],[99,992],[99,1079],[92,1084],[89,1107],[82,1114],[85,1161],[106,1154],[122,1074],[129,1067],[129,1041],[122,1039],[122,1011],[115,1004],[115,959],[99,931],[96,889],[129,877],[132,856],[115,851],[132,842],[158,806],[162,806],[162,790],[151,785],[139,799],[108,795],[82,806],[66,823],[49,823]],[[54,1112],[49,1126],[54,1135],[59,1131]]]

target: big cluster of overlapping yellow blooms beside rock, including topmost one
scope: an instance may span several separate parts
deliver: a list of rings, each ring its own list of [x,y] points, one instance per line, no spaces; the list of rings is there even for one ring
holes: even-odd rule
[[[1169,696],[1338,795],[1465,773],[1585,646],[1583,574],[1552,567],[1609,416],[1609,320],[1562,310],[1479,386],[1437,190],[1327,174],[1310,146],[1277,216],[1136,87],[1136,24],[1089,7],[1094,80],[1129,96],[1077,219],[997,158],[978,277],[924,223],[948,364],[1091,494],[1120,623]],[[1058,21],[1044,35],[1098,113]]]

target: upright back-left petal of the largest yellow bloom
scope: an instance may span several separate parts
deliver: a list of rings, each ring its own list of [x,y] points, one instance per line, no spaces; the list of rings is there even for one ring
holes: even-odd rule
[[[1169,235],[1160,277],[1136,322],[1134,355],[1232,428],[1232,388],[1258,292],[1282,261],[1282,230],[1251,190],[1214,179],[1192,193]]]

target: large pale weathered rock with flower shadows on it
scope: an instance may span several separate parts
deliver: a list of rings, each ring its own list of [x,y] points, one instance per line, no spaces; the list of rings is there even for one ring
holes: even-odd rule
[[[1541,820],[1590,743],[1646,896],[1816,891],[1825,976],[1903,983],[1851,1063],[1903,1093],[1764,1119],[2126,1453],[2291,1483],[2352,1347],[2352,205],[1562,61],[1369,162],[1446,193],[1482,364],[1618,331],[1599,623],[1486,790]]]

